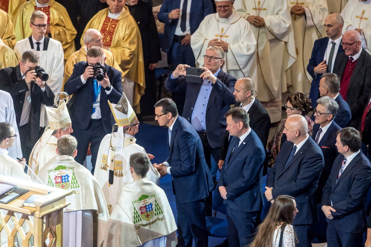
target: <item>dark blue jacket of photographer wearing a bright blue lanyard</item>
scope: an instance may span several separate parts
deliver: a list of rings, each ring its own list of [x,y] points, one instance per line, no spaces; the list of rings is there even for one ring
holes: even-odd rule
[[[93,111],[93,79],[88,78],[86,83],[81,82],[80,76],[85,72],[88,63],[86,61],[78,62],[73,66],[71,77],[65,84],[65,92],[72,97],[73,115],[72,125],[79,126],[80,129],[88,128],[90,117]],[[109,109],[108,100],[111,103],[117,103],[122,96],[121,72],[111,66],[106,65],[106,73],[113,89],[109,95],[101,88],[100,108],[102,114],[103,127],[106,134],[111,133],[112,125],[115,120]]]

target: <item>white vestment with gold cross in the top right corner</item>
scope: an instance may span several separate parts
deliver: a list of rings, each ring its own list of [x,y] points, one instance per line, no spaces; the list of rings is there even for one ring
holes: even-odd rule
[[[362,48],[371,54],[371,1],[349,0],[341,16],[344,19],[342,32],[362,29]]]

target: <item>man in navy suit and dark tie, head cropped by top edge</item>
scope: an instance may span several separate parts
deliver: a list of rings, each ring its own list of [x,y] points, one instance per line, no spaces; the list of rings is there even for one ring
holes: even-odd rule
[[[164,39],[161,48],[170,57],[172,70],[178,64],[196,66],[191,48],[191,34],[200,26],[208,14],[213,13],[211,0],[164,0],[157,18],[165,23]],[[182,115],[185,94],[174,92],[174,101]]]

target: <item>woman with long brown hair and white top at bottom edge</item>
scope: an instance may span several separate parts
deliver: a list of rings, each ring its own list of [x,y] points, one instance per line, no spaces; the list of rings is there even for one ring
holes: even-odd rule
[[[288,195],[276,197],[249,247],[295,247],[296,238],[291,224],[296,213],[295,198]]]

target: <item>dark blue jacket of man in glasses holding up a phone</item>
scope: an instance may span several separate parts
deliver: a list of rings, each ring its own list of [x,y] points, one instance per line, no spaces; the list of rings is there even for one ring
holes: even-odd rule
[[[171,79],[170,75],[172,73],[165,80],[165,88],[171,92],[185,92],[182,116],[190,122],[201,84],[187,83],[184,76]],[[230,109],[230,105],[236,103],[236,99],[233,96],[236,80],[236,78],[220,69],[217,81],[211,85],[212,89],[206,109],[206,135],[212,148],[222,146],[226,129],[226,126],[223,124],[226,121],[224,114]]]

